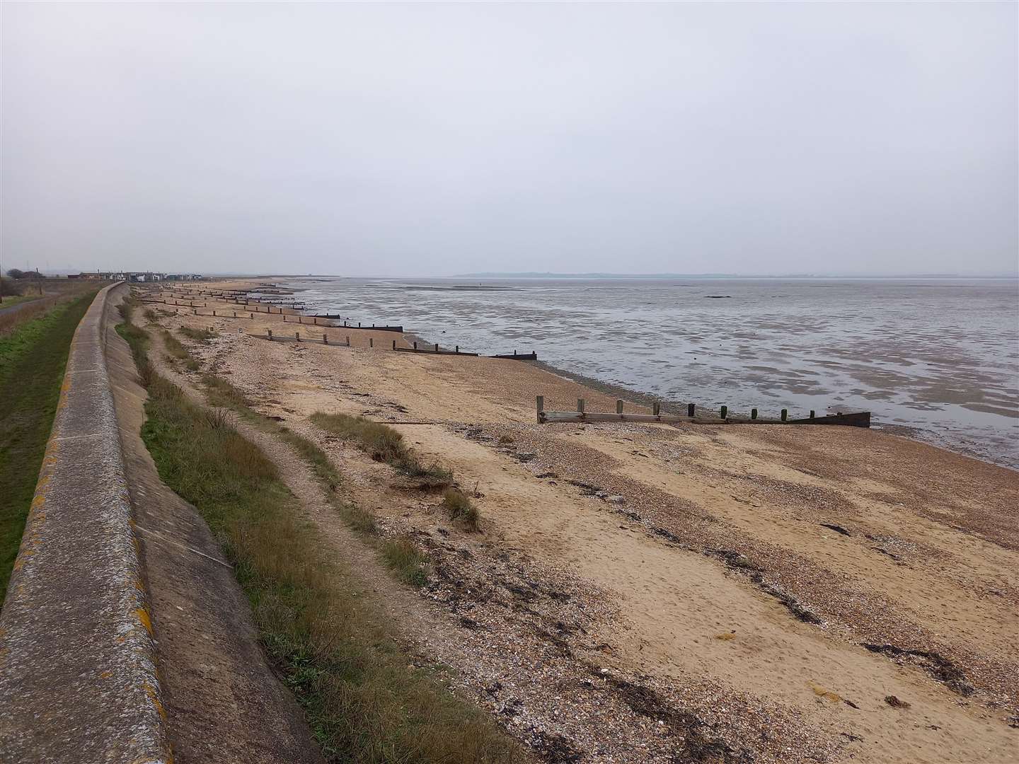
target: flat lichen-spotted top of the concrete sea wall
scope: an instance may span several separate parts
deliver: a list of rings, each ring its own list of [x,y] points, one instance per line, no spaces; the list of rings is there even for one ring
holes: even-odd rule
[[[171,761],[104,352],[111,288],[71,341],[0,613],[0,761]]]

